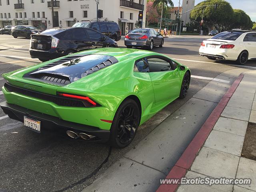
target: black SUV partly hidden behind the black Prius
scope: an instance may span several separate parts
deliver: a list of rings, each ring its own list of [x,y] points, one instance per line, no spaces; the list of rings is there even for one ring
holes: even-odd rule
[[[120,28],[114,21],[77,22],[72,27],[91,28],[106,35],[114,41],[119,41],[121,39]]]

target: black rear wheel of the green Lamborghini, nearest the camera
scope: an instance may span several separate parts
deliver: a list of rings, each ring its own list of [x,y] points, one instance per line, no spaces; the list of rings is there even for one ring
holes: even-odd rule
[[[137,132],[140,124],[140,110],[132,99],[124,100],[112,122],[110,128],[110,145],[116,148],[128,146]]]

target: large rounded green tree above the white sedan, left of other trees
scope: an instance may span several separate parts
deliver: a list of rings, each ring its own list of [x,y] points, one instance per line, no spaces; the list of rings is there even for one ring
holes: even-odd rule
[[[214,6],[212,5],[216,3],[218,4],[218,7],[215,10]],[[190,13],[190,19],[200,22],[200,20],[202,20],[204,10],[204,26],[206,26],[209,31],[211,30],[212,26],[215,26],[216,28],[227,26],[234,15],[231,5],[224,0],[205,0],[197,4],[195,7],[199,6],[207,7],[200,7],[192,10]]]

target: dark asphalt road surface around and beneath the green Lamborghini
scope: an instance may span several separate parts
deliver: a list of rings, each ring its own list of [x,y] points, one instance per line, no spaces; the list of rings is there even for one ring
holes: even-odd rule
[[[153,51],[187,65],[194,76],[215,78],[218,74],[235,68],[256,69],[256,61],[249,61],[246,66],[241,67],[234,62],[213,61],[198,56],[203,38],[207,37],[165,38],[164,47],[156,47]],[[0,50],[1,75],[40,63],[39,60],[30,58],[29,43],[30,40],[26,38],[14,39],[10,35],[0,35],[1,45],[15,47]],[[124,47],[123,40],[118,42],[118,46]],[[209,81],[192,78],[187,97],[174,101],[140,126],[134,141],[125,149],[72,140],[65,134],[37,134],[26,129],[20,122],[4,118],[5,114],[0,110],[0,191],[81,191]],[[3,84],[4,80],[0,78],[0,86]],[[0,102],[4,100],[0,92]]]

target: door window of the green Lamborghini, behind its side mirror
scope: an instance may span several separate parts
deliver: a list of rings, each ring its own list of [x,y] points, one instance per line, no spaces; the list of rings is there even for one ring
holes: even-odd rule
[[[171,69],[170,63],[160,58],[148,58],[150,72],[168,71]]]

